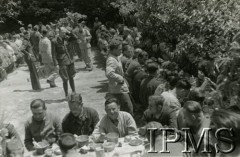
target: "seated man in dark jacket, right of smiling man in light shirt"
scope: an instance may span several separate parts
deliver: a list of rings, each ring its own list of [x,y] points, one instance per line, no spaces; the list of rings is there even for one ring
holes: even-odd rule
[[[144,112],[142,120],[145,124],[156,121],[165,128],[177,128],[177,110],[164,105],[164,101],[162,96],[150,96],[149,107]]]

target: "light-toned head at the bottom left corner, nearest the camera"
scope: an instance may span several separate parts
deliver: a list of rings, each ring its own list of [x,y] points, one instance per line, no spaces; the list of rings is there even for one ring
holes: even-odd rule
[[[17,139],[12,139],[7,142],[6,154],[8,157],[23,157],[24,147],[21,141]]]

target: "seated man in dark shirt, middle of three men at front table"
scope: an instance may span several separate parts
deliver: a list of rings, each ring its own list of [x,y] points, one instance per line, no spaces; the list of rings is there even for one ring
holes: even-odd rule
[[[97,111],[84,107],[82,96],[76,93],[68,97],[68,105],[70,112],[63,119],[63,132],[76,135],[91,135],[99,121]]]

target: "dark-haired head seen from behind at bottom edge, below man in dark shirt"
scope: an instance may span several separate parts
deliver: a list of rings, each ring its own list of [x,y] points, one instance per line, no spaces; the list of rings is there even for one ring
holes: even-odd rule
[[[78,157],[80,154],[76,150],[77,142],[73,134],[64,133],[59,138],[59,147],[63,157]]]

